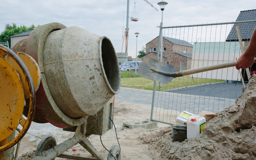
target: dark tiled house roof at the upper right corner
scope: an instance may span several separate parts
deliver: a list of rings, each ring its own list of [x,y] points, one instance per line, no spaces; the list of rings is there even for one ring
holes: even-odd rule
[[[240,11],[238,17],[236,18],[236,22],[247,20],[256,20],[256,9]],[[251,40],[253,30],[256,27],[256,22],[234,24],[234,26],[232,27],[231,31],[228,34],[226,41],[238,41],[236,34],[236,26],[239,26],[242,41]]]

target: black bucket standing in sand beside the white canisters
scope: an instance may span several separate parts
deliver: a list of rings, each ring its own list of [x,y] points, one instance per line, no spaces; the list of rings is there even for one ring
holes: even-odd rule
[[[172,125],[172,141],[182,142],[187,139],[187,127],[184,126],[173,126]]]

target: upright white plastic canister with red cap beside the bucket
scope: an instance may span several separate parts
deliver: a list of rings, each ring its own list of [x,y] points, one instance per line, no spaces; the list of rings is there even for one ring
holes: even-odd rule
[[[206,124],[205,117],[192,116],[187,122],[187,138],[196,138],[203,131]]]

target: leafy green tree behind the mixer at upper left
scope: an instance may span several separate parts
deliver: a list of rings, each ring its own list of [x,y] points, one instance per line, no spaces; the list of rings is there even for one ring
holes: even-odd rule
[[[10,36],[13,36],[13,35],[25,32],[25,31],[29,31],[34,28],[36,28],[34,24],[32,24],[30,27],[26,27],[25,25],[23,25],[23,26],[20,25],[20,27],[17,27],[15,23],[12,23],[12,26],[9,24],[6,24],[5,30],[0,35],[0,42],[8,41],[9,45],[11,45]]]

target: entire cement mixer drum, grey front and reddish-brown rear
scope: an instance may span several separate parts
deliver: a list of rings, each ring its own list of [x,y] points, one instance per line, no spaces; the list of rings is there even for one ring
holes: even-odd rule
[[[54,22],[35,28],[13,49],[33,57],[41,71],[34,122],[80,125],[120,90],[116,52],[106,36]]]

